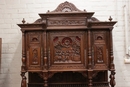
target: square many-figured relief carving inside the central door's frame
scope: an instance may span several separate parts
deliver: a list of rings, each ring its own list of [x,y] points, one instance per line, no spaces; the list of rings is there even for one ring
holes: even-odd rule
[[[54,37],[54,63],[80,63],[80,36]]]

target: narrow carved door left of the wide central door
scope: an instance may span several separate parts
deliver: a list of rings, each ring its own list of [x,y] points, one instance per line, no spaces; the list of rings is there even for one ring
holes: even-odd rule
[[[42,64],[42,32],[29,32],[26,36],[27,68],[29,70],[40,70]]]

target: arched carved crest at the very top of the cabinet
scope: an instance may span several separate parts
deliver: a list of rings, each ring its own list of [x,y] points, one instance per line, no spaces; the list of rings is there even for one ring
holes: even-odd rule
[[[69,2],[61,3],[54,11],[52,12],[81,12],[74,4]]]

